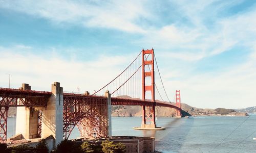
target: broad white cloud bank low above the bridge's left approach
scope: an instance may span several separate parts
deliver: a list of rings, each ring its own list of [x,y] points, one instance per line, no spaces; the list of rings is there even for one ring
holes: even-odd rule
[[[7,75],[11,74],[11,87],[18,88],[22,83],[29,83],[32,89],[50,90],[50,84],[60,82],[65,91],[97,90],[111,81],[123,68],[130,64],[134,55],[100,56],[89,62],[62,59],[54,55],[36,55],[35,48],[23,46],[0,47],[0,86],[8,87]],[[29,49],[28,49],[29,48]],[[25,52],[27,51],[27,52]],[[130,59],[131,57],[131,59]]]

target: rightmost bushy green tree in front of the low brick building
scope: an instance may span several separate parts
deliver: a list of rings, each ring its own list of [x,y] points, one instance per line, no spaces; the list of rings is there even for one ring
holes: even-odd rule
[[[122,143],[114,143],[112,141],[106,140],[102,141],[102,151],[104,153],[116,153],[116,152],[125,152],[125,145]]]

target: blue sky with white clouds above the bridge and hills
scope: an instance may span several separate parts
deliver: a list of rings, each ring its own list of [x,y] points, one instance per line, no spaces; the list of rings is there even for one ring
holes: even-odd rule
[[[256,1],[0,0],[3,88],[92,93],[152,47],[169,97],[256,106]]]

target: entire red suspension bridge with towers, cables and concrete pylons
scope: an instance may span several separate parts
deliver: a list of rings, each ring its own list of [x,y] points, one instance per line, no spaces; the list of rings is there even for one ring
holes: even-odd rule
[[[155,66],[168,102],[164,102],[155,83]],[[155,100],[155,90],[162,101]],[[23,134],[25,139],[53,135],[58,144],[69,138],[75,126],[81,137],[111,136],[111,106],[115,105],[141,106],[142,122],[137,129],[158,130],[155,107],[173,108],[177,117],[182,115],[180,91],[176,90],[175,95],[176,105],[172,105],[154,49],[142,49],[115,79],[93,94],[63,92],[58,82],[52,84],[52,91],[34,91],[28,84],[19,89],[0,88],[0,143],[7,142],[9,107],[17,107],[16,134]]]

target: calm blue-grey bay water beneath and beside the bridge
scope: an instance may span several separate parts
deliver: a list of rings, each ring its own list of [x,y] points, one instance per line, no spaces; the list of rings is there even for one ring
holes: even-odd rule
[[[155,137],[156,150],[162,152],[256,152],[256,140],[252,140],[256,133],[237,146],[256,130],[256,115],[251,115],[221,145],[212,150],[246,118],[247,116],[158,117],[157,125],[166,127],[166,130],[138,131],[132,127],[140,125],[140,117],[113,117],[112,134]],[[8,119],[8,137],[13,135],[14,121],[15,118]],[[77,137],[79,131],[75,128],[70,138]],[[233,147],[236,148],[231,150]]]

